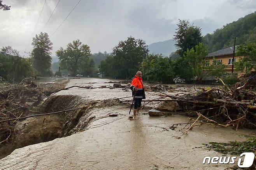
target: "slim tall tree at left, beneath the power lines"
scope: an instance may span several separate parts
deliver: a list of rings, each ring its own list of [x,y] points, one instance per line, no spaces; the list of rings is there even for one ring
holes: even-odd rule
[[[50,68],[52,57],[50,55],[51,50],[53,49],[53,43],[49,39],[48,34],[41,32],[39,35],[35,35],[32,40],[32,45],[32,56],[35,69],[41,76],[51,75]]]

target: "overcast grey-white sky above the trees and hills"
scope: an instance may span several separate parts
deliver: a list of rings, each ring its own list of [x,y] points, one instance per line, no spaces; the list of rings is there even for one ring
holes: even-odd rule
[[[3,0],[11,10],[0,10],[0,47],[11,45],[32,50],[31,37],[45,0]],[[35,28],[50,36],[79,0],[46,0]],[[147,44],[173,38],[178,19],[186,19],[202,28],[203,35],[226,23],[237,21],[256,10],[256,0],[81,0],[72,14],[51,36],[52,56],[60,47],[79,39],[91,52],[111,52],[128,36]],[[29,45],[28,45],[29,44]],[[28,47],[27,47],[28,45]],[[27,47],[27,48],[26,48]]]

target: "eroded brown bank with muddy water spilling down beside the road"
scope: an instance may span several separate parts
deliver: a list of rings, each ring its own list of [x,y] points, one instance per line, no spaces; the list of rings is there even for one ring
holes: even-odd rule
[[[74,110],[18,121],[15,126],[16,133],[12,135],[11,140],[8,139],[1,144],[0,158],[20,147],[52,141],[83,131],[95,119],[95,116],[89,113],[92,108],[110,107],[116,102],[85,100],[77,95],[52,95],[38,108],[39,114]]]

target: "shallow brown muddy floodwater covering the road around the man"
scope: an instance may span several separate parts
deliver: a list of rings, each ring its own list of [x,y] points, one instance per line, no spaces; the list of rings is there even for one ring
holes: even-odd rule
[[[93,87],[112,85],[107,79],[81,78],[70,80],[72,85]],[[72,88],[55,95],[79,95],[91,100],[127,97],[131,92],[121,88]],[[146,92],[147,99],[154,98]],[[142,111],[136,120],[128,120],[130,106],[116,104],[110,107],[93,108],[95,119],[86,130],[68,137],[54,139],[19,148],[0,160],[0,169],[88,169],[88,170],[162,170],[162,169],[225,169],[230,165],[203,165],[205,156],[222,156],[202,147],[207,142],[244,141],[243,135],[255,134],[253,130],[214,127],[194,127],[188,135],[182,135],[180,126],[175,130],[164,130],[173,123],[187,122],[187,116],[149,117]],[[118,113],[117,117],[104,116]]]

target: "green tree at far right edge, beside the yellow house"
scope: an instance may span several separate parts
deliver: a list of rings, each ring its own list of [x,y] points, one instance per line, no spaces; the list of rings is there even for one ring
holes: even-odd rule
[[[238,47],[237,56],[244,56],[238,62],[235,63],[236,69],[240,71],[246,71],[248,73],[252,69],[256,70],[256,43],[250,43]]]

